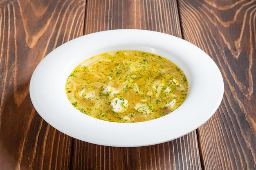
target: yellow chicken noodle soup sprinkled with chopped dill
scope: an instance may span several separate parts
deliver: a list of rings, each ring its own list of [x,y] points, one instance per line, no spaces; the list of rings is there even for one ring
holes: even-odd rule
[[[188,82],[173,62],[144,51],[112,51],[79,64],[67,78],[70,103],[114,122],[140,122],[171,113],[185,100]]]

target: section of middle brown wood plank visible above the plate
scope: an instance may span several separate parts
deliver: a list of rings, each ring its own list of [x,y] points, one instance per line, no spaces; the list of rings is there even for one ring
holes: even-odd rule
[[[181,37],[174,0],[88,0],[84,34],[110,29],[146,29]]]

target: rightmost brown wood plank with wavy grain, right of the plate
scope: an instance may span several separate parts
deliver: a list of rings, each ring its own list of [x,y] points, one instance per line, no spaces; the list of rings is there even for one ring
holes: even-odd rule
[[[199,128],[203,168],[256,169],[256,1],[179,0],[183,38],[218,64],[225,94]]]

